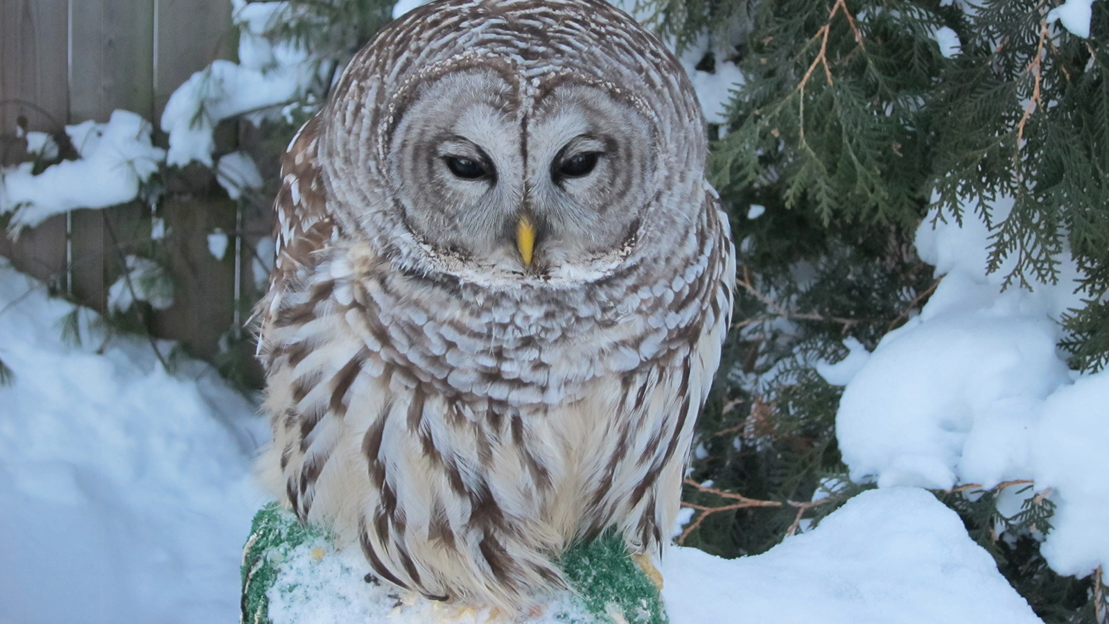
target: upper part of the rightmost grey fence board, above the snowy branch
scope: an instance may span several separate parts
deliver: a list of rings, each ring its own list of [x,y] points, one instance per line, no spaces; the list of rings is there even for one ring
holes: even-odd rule
[[[154,124],[157,125],[177,87],[212,61],[234,58],[236,30],[231,24],[228,0],[154,1],[157,4]]]

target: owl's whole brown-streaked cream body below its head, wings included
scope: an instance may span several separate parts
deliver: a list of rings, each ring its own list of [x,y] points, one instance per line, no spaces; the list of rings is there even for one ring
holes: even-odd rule
[[[714,194],[650,265],[491,291],[342,235],[315,132],[282,171],[260,309],[271,484],[431,597],[519,606],[561,583],[553,554],[613,525],[633,550],[661,547],[732,304]]]

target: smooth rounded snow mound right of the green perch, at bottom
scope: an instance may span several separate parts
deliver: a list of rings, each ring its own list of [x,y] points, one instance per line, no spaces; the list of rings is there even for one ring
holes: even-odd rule
[[[672,624],[1040,622],[958,515],[912,487],[864,492],[761,555],[671,548],[662,573]]]

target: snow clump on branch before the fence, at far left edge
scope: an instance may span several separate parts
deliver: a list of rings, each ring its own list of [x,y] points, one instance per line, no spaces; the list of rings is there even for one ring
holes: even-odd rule
[[[65,132],[78,160],[59,162],[38,175],[30,162],[0,170],[0,213],[14,212],[10,230],[38,225],[68,210],[129,202],[165,155],[151,145],[150,123],[129,111],[113,112],[108,123],[67,125]],[[42,147],[48,149],[44,140]]]

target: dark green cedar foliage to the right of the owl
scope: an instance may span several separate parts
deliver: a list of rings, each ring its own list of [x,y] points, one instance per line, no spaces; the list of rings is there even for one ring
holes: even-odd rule
[[[805,512],[812,522],[862,487],[845,485],[836,450],[841,390],[813,364],[846,355],[848,336],[873,349],[927,301],[932,268],[912,241],[933,207],[986,220],[988,269],[1015,259],[1013,288],[1055,281],[1074,253],[1086,301],[1065,316],[1061,346],[1076,370],[1109,364],[1109,9],[1093,4],[1082,39],[1047,22],[1057,3],[641,0],[661,36],[723,53],[745,77],[710,159],[740,280],[693,482],[780,502],[834,490]],[[943,27],[962,43],[950,58],[934,39]],[[1007,213],[989,208],[1000,198]],[[752,204],[765,214],[746,219]],[[704,490],[691,484],[685,501],[728,503]],[[1050,501],[1005,517],[999,494],[937,492],[1046,622],[1095,622],[1093,581],[1060,577],[1039,554]],[[712,513],[685,544],[756,554],[795,514]]]

